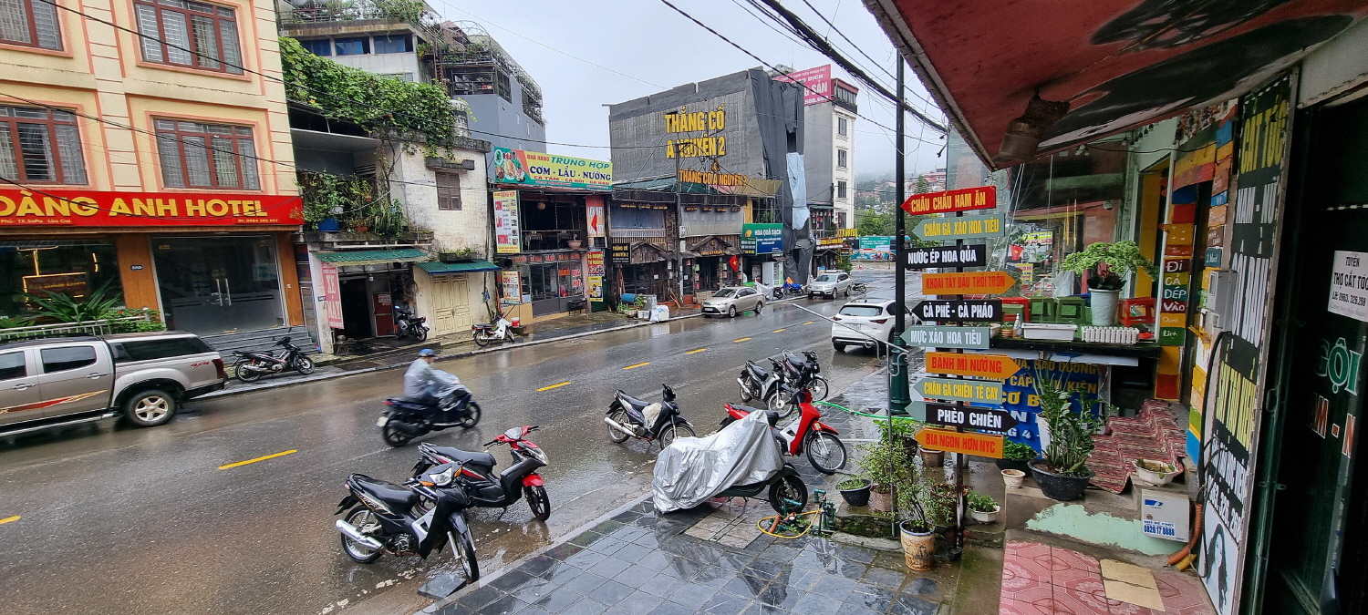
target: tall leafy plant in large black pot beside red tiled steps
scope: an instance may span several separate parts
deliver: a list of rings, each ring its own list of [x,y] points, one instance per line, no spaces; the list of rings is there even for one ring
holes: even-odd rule
[[[1040,395],[1036,420],[1049,428],[1049,444],[1042,458],[1027,465],[1047,497],[1060,502],[1078,499],[1093,477],[1093,470],[1088,469],[1093,435],[1107,422],[1111,406],[1096,395],[1081,395],[1075,407],[1068,377],[1055,379],[1051,372],[1038,368],[1036,392]],[[1101,405],[1100,411],[1093,411],[1094,405]]]

